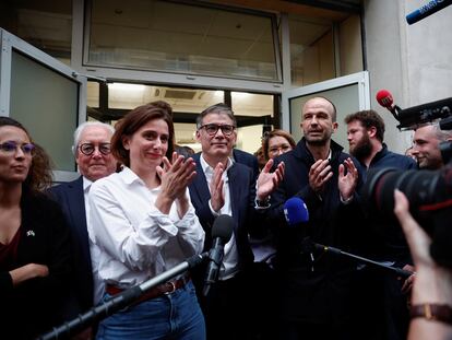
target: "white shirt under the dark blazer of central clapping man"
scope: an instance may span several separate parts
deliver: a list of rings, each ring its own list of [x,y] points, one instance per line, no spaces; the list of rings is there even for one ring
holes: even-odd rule
[[[201,167],[204,172],[205,179],[207,181],[207,186],[211,185],[214,168],[205,162],[203,155],[200,156]],[[212,203],[209,200],[209,207],[214,215],[219,214],[227,214],[229,216],[233,215],[233,209],[230,206],[230,190],[229,190],[229,178],[227,176],[227,171],[234,165],[233,159],[228,159],[227,166],[223,172],[222,179],[223,179],[223,194],[225,197],[225,204],[222,207],[219,211],[214,211],[212,208]],[[222,261],[222,267],[219,268],[218,280],[227,280],[233,278],[239,270],[238,268],[238,250],[237,250],[237,242],[236,237],[233,233],[229,242],[224,247],[225,254]]]

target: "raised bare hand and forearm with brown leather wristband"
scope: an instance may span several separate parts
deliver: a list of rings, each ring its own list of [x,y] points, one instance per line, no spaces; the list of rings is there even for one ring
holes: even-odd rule
[[[452,270],[430,255],[431,237],[409,213],[406,196],[395,190],[394,213],[402,225],[416,266],[412,290],[412,321],[408,340],[452,339]]]

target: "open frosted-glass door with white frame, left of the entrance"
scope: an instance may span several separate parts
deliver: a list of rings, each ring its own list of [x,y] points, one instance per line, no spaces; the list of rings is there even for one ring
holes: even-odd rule
[[[86,78],[0,30],[0,114],[25,126],[55,163],[55,180],[79,176],[73,131],[86,120]]]

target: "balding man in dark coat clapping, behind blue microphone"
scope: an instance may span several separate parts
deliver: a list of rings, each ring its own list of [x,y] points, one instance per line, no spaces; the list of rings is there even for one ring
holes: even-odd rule
[[[331,140],[337,129],[336,109],[313,97],[302,108],[304,138],[276,163],[285,177],[272,195],[272,214],[279,220],[276,270],[279,280],[278,339],[350,339],[348,302],[354,266],[346,259],[302,247],[304,239],[348,248],[353,231],[346,216],[356,204],[358,169],[342,146]],[[309,210],[306,225],[288,226],[284,203],[301,198]]]

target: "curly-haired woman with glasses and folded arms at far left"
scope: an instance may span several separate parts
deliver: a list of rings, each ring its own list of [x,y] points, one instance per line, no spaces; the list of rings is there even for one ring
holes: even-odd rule
[[[34,339],[61,321],[70,274],[69,230],[40,191],[50,161],[16,120],[0,117],[1,338]]]

